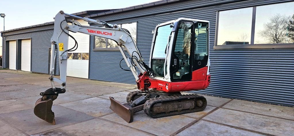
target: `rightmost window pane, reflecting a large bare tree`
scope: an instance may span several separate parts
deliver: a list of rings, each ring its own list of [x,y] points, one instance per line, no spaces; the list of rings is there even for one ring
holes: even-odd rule
[[[293,43],[294,2],[256,7],[254,44]]]

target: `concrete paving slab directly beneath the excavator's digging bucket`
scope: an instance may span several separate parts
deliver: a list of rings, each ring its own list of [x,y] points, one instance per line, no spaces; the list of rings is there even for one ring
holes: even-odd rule
[[[36,117],[33,109],[1,114],[0,119],[29,135],[93,119],[89,115],[62,106],[53,106],[52,111],[55,114],[56,125]]]

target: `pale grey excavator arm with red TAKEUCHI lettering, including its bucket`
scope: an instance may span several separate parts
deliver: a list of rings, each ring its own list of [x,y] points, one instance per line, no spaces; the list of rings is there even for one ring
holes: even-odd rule
[[[65,15],[72,16],[77,19],[83,19],[84,21],[98,24],[103,27],[96,27],[96,26],[83,26],[77,21],[68,20],[65,19]],[[80,32],[83,34],[89,34],[97,37],[107,38],[115,41],[118,44],[118,49],[120,50],[124,60],[126,61],[126,64],[130,68],[131,72],[133,73],[136,81],[138,82],[139,75],[137,72],[137,69],[141,72],[141,75],[149,76],[155,76],[152,72],[152,69],[150,69],[144,62],[143,58],[140,54],[140,51],[136,47],[134,40],[131,37],[131,34],[125,30],[121,29],[117,24],[108,24],[104,21],[100,20],[93,20],[89,18],[81,18],[78,16],[74,16],[71,14],[66,14],[63,11],[60,11],[55,16],[54,21],[54,32],[53,36],[51,38],[51,63],[50,63],[50,74],[51,77],[49,77],[51,81],[52,88],[46,90],[45,92],[41,92],[40,95],[42,98],[38,99],[35,108],[34,113],[37,117],[55,125],[54,120],[54,112],[52,112],[51,107],[53,104],[53,101],[58,97],[58,94],[65,93],[66,92],[66,67],[67,67],[67,53],[76,50],[78,47],[78,43],[69,34],[69,31],[71,32]],[[75,45],[73,48],[68,49],[68,39],[69,37],[73,38],[75,41]],[[57,50],[56,50],[57,48]],[[128,52],[128,54],[131,56],[131,58],[127,57],[125,51]],[[53,77],[55,72],[55,60],[56,56],[59,60],[59,74],[60,79]],[[57,82],[60,84],[60,88],[55,87],[55,83]],[[138,85],[140,87],[140,85]],[[141,88],[144,89],[144,84],[141,85]]]

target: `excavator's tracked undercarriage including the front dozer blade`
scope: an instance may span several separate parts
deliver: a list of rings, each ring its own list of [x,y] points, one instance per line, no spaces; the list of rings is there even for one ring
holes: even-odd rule
[[[121,104],[112,97],[110,100],[110,109],[128,123],[133,122],[134,113],[141,110],[152,118],[159,118],[200,112],[207,105],[206,99],[197,94],[182,95],[180,92],[166,93],[157,90],[130,92],[125,104]]]

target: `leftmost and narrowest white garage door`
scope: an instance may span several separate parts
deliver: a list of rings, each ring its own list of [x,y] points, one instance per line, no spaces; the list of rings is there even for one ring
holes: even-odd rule
[[[16,40],[9,41],[9,69],[16,70]]]

